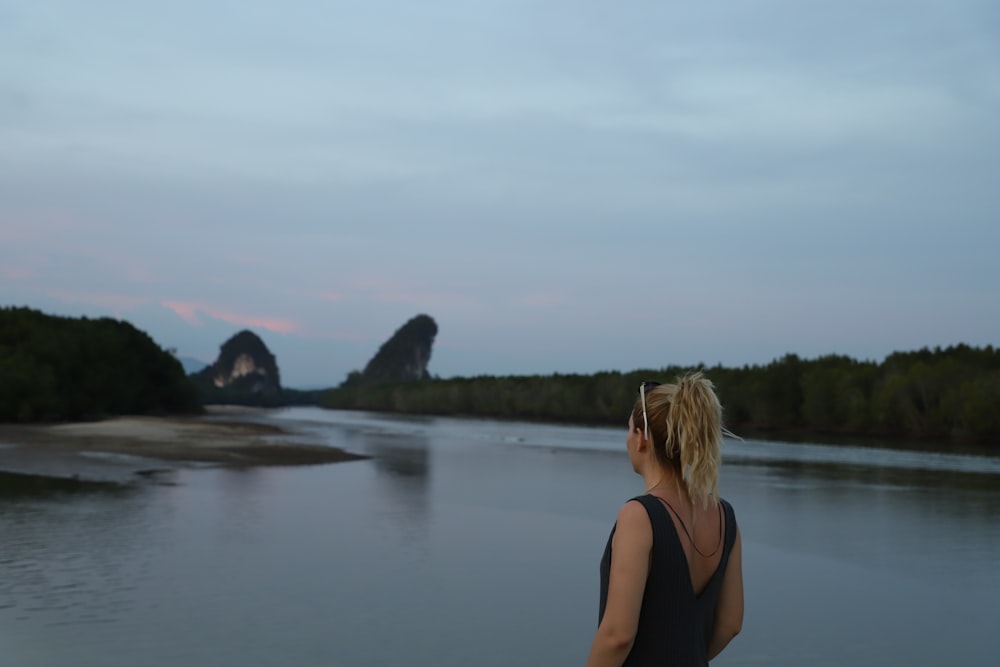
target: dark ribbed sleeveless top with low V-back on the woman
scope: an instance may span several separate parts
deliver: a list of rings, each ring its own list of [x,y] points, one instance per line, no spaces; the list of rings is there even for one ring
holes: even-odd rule
[[[632,498],[642,503],[653,526],[653,554],[639,611],[635,643],[623,667],[706,667],[708,643],[715,628],[715,605],[729,554],[736,542],[736,516],[732,506],[720,499],[725,511],[726,531],[722,558],[701,595],[695,595],[687,556],[674,522],[656,496]],[[611,572],[611,529],[601,559],[601,606],[598,623],[608,603]]]

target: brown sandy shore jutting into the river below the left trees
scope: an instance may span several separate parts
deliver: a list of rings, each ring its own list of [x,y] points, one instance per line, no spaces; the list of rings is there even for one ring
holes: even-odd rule
[[[102,454],[107,455],[103,457],[105,468],[112,463],[117,466],[117,476],[123,462],[128,464],[125,467],[134,468],[133,472],[155,467],[148,461],[130,461],[132,457],[227,466],[306,465],[367,458],[335,447],[292,442],[295,434],[277,426],[213,412],[216,416],[212,418],[119,417],[56,425],[0,424],[0,470],[93,477],[94,462],[101,461]],[[114,455],[119,456],[116,459]],[[84,472],[73,472],[74,460]],[[97,468],[99,472],[100,466]]]

